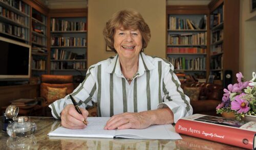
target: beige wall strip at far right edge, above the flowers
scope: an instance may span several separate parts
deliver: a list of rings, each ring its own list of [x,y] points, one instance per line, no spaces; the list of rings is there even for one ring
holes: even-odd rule
[[[256,11],[250,12],[249,0],[240,1],[240,10],[239,70],[250,80],[256,72]]]

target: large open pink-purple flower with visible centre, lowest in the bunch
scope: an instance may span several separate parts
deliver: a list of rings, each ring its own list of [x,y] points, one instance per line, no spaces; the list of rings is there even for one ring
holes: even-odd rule
[[[231,102],[231,110],[238,111],[238,113],[247,113],[250,110],[249,102],[242,99],[244,95],[246,94],[242,93],[234,97],[234,101]]]

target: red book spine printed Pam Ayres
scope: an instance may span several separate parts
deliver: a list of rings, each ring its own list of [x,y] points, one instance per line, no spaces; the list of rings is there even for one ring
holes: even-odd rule
[[[253,141],[256,136],[253,131],[185,119],[178,120],[175,125],[175,131],[179,134],[185,134],[247,149],[253,149]]]

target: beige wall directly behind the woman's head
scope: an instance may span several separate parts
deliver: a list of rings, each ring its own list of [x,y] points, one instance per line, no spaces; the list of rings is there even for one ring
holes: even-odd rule
[[[141,13],[151,29],[151,41],[145,49],[147,55],[165,58],[166,1],[165,0],[89,0],[88,1],[88,67],[115,55],[106,52],[102,30],[113,13],[132,8]]]

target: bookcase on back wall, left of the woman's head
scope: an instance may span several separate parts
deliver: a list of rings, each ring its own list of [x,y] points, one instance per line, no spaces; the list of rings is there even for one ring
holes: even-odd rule
[[[51,10],[50,25],[51,74],[84,76],[87,71],[87,10]]]

